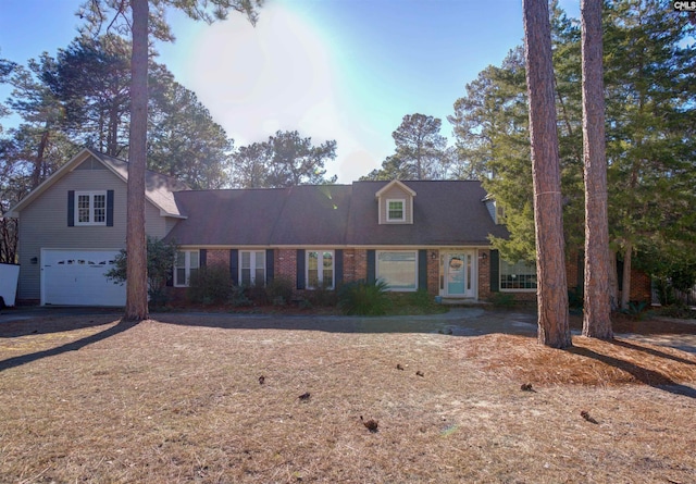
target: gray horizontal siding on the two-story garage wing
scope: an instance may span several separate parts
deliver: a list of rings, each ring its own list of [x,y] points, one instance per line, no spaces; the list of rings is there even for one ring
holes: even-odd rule
[[[90,163],[90,159],[85,163]],[[126,243],[126,184],[110,170],[76,170],[57,181],[20,213],[17,299],[40,298],[41,249],[121,249]],[[96,162],[95,164],[99,164]],[[67,226],[67,191],[113,190],[113,226]],[[165,219],[146,203],[146,231],[164,237]],[[32,264],[36,258],[37,263]]]

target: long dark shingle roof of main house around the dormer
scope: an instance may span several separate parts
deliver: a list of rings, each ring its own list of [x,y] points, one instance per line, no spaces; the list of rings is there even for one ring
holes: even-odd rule
[[[480,182],[403,182],[418,196],[413,224],[380,225],[375,194],[387,182],[275,189],[187,190],[167,238],[191,246],[467,246],[506,237]]]

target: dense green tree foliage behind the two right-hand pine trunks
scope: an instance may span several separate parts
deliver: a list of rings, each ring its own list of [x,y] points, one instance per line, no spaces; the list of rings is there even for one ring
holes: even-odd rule
[[[607,2],[602,21],[609,239],[624,263],[625,305],[634,253],[650,274],[689,265],[696,253],[695,26],[658,0]],[[551,28],[563,232],[577,250],[584,240],[580,28],[558,8]],[[508,260],[533,261],[524,71],[522,51],[513,49],[467,85],[449,120],[461,162],[505,209],[511,237],[494,246]]]

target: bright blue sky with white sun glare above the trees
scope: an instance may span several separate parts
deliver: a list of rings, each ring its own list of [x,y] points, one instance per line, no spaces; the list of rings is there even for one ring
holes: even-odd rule
[[[25,64],[76,36],[82,0],[0,0],[0,57]],[[561,1],[576,15],[580,0]],[[350,183],[394,152],[406,114],[443,120],[464,86],[522,42],[521,0],[266,0],[256,27],[169,12],[159,62],[194,90],[236,146],[277,129],[336,139],[326,167]],[[9,95],[0,87],[0,98]],[[12,122],[3,120],[5,127]]]

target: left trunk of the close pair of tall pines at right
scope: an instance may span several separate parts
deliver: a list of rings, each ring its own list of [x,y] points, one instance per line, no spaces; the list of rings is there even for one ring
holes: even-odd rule
[[[534,181],[538,340],[554,348],[566,348],[572,346],[572,340],[568,322],[560,161],[547,0],[523,0],[523,11]]]

